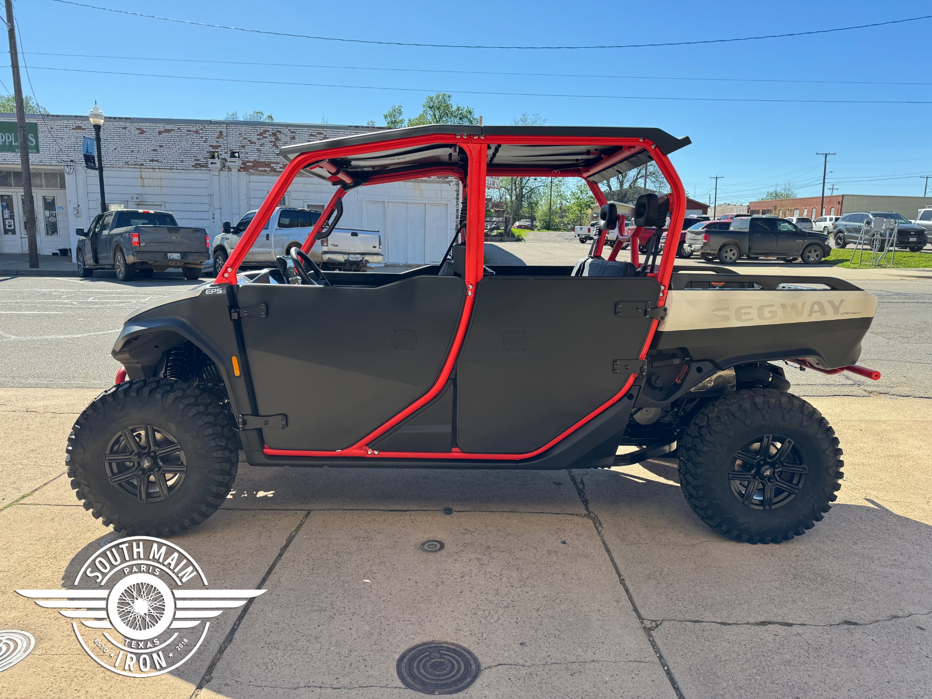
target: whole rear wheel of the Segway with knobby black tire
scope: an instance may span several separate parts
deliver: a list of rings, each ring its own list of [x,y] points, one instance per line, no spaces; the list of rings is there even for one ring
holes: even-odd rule
[[[844,475],[826,419],[802,398],[774,389],[736,391],[706,405],[678,455],[693,512],[748,543],[787,541],[813,528]]]

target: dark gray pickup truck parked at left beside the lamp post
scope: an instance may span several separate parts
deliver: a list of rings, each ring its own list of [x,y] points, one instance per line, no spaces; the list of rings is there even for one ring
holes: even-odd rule
[[[181,267],[185,279],[198,279],[211,258],[203,228],[178,226],[169,212],[122,209],[98,213],[88,230],[77,228],[75,262],[81,277],[113,269],[119,281],[151,277]]]

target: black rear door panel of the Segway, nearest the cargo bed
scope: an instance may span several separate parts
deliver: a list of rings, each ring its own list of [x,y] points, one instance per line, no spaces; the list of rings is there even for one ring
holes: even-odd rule
[[[528,453],[610,400],[629,377],[624,360],[640,354],[651,326],[644,310],[659,295],[649,278],[480,281],[457,369],[459,448]]]

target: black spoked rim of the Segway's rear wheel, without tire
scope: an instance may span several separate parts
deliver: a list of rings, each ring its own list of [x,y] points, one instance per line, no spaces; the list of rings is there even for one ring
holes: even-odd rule
[[[809,467],[793,440],[763,434],[738,449],[728,480],[735,498],[753,510],[775,510],[795,498]]]

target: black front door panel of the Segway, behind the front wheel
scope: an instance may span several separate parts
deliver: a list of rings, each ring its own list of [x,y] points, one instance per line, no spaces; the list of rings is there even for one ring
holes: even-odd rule
[[[377,288],[243,284],[259,414],[288,419],[263,431],[266,444],[346,448],[416,401],[440,374],[464,298],[456,277]]]

